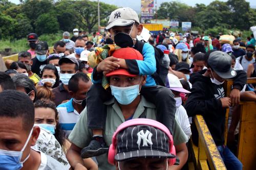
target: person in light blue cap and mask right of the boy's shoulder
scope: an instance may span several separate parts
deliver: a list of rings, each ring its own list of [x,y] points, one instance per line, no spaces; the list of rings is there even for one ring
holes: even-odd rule
[[[179,62],[184,61],[189,64],[188,48],[185,43],[178,43],[176,45],[175,55],[178,56]]]

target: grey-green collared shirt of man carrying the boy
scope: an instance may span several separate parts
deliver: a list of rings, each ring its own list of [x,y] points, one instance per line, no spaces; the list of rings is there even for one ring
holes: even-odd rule
[[[105,128],[103,130],[103,137],[107,145],[112,143],[112,136],[119,125],[125,122],[122,111],[117,103],[117,101],[112,98],[110,101],[105,102],[106,106],[106,122]],[[156,120],[156,106],[145,100],[141,96],[141,101],[137,106],[133,118],[139,118],[141,115],[145,115],[145,118],[150,118]],[[183,130],[181,129],[179,123],[175,119],[174,123],[174,143],[178,145],[186,141],[187,137]],[[88,128],[87,123],[87,109],[81,112],[80,118],[75,125],[73,131],[69,135],[69,139],[72,143],[77,145],[79,148],[87,147],[92,140],[92,131]],[[116,169],[115,166],[108,163],[108,155],[103,154],[96,157],[98,162],[99,170],[103,169]]]

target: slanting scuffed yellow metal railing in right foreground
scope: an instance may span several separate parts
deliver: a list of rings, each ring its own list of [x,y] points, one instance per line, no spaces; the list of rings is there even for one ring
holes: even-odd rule
[[[226,169],[203,116],[196,115],[194,119],[199,135],[198,148],[193,145],[194,151],[198,149],[198,152],[194,152],[195,157],[197,157],[196,169]]]

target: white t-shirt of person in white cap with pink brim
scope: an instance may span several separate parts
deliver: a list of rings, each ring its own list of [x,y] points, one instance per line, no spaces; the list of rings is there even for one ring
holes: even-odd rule
[[[188,141],[188,139],[190,138],[192,133],[191,133],[191,129],[190,129],[189,120],[187,117],[187,112],[182,105],[180,107],[176,108],[175,116],[176,116],[178,122],[180,123],[182,130],[187,135],[187,141]]]

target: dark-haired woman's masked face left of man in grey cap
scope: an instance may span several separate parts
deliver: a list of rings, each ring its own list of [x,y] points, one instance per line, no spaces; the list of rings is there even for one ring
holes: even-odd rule
[[[52,84],[51,89],[58,87],[59,85],[58,70],[52,64],[47,64],[42,69],[42,80],[38,83],[38,85],[44,85],[46,82]]]

